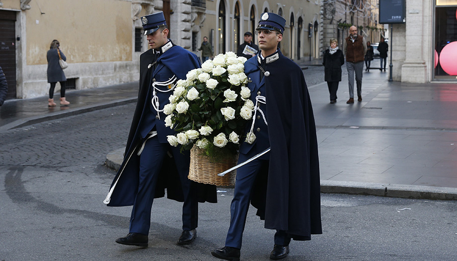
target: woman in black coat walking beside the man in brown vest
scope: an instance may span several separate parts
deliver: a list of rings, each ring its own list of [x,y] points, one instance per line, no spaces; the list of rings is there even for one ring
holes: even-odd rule
[[[330,47],[325,50],[322,64],[325,71],[324,80],[327,82],[328,91],[330,92],[330,103],[333,104],[338,98],[336,97],[336,92],[341,81],[341,65],[344,65],[344,55],[338,49],[338,41],[336,39],[330,39]]]

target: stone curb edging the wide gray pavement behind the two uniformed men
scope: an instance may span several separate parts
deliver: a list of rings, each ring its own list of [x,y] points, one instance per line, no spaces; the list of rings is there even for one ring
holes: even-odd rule
[[[105,165],[116,171],[119,170],[123,160],[123,153],[124,148],[108,153],[106,155]],[[320,192],[329,194],[334,193],[433,200],[457,200],[457,188],[368,182],[320,180]]]

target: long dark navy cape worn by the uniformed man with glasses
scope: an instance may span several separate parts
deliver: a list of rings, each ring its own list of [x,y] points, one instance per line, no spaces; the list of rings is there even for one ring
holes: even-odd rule
[[[311,234],[322,234],[316,127],[302,69],[278,53],[264,68],[270,72],[264,77],[270,163],[257,176],[251,204],[265,228],[310,240]],[[257,57],[244,67],[246,75],[258,74]]]

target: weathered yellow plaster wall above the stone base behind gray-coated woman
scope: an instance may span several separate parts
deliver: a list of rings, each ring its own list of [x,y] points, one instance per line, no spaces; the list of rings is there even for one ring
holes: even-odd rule
[[[27,65],[47,64],[54,39],[70,64],[132,60],[131,1],[40,0],[30,6],[25,11]]]

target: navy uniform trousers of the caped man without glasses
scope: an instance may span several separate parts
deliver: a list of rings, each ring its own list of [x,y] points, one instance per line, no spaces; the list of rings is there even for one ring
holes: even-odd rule
[[[164,157],[170,150],[178,169],[184,194],[182,206],[182,229],[192,230],[197,227],[198,199],[195,183],[187,176],[189,174],[189,154],[182,154],[179,148],[168,143],[160,143],[157,136],[146,141],[145,148],[140,155],[140,181],[138,193],[130,216],[130,233],[149,234],[151,226],[151,208],[154,199],[157,177],[159,175]]]

